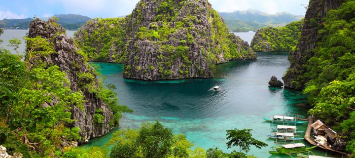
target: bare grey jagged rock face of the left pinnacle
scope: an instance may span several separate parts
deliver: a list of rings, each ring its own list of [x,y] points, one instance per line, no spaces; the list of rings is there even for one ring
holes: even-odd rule
[[[71,83],[71,90],[82,91],[85,97],[85,111],[76,106],[71,108],[71,118],[76,119],[72,126],[77,126],[81,129],[82,142],[80,143],[106,134],[112,128],[109,126],[109,122],[113,118],[113,114],[97,94],[89,92],[80,86],[83,81],[80,80],[79,74],[91,74],[95,77],[93,84],[99,87],[99,83],[92,68],[88,66],[85,58],[77,51],[73,40],[67,37],[64,28],[52,19],[44,22],[37,18],[31,22],[28,37],[35,38],[38,36],[52,43],[55,50],[55,53],[42,57],[40,60],[46,66],[59,66],[60,71],[67,74],[67,78]],[[103,111],[103,125],[96,125],[93,122],[93,115],[97,109],[102,109]]]

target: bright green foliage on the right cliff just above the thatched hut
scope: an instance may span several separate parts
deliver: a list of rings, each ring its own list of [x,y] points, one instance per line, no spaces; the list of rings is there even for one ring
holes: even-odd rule
[[[321,89],[315,107],[309,111],[333,125],[350,140],[347,151],[355,152],[355,73],[346,80],[334,80]],[[330,119],[331,118],[331,119]]]

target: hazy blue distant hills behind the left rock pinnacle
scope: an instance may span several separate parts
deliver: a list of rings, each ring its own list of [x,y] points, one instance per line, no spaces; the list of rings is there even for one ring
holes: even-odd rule
[[[69,30],[76,30],[83,26],[86,21],[90,20],[91,18],[82,15],[75,15],[75,14],[58,14],[54,15],[58,17],[59,24],[61,24],[65,29]],[[40,18],[42,20],[47,20],[48,17]],[[3,19],[0,20],[0,28],[6,29],[28,29],[30,22],[33,18],[27,19]]]

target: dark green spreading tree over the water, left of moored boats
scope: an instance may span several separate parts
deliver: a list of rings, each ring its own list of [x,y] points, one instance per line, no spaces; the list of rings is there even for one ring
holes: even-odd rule
[[[227,130],[227,140],[229,141],[226,144],[228,149],[232,146],[239,146],[239,152],[245,151],[248,153],[251,145],[259,149],[268,146],[267,144],[252,138],[251,131],[251,129],[238,130],[237,128]]]

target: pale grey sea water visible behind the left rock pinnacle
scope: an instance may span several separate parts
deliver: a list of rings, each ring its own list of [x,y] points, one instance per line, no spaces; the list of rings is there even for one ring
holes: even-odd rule
[[[7,46],[9,44],[8,40],[11,40],[13,38],[17,38],[21,40],[21,44],[19,47],[19,52],[25,52],[25,41],[23,40],[23,37],[25,37],[28,34],[28,30],[4,30],[3,34],[0,36],[0,39],[3,40],[2,43],[0,43],[0,48],[5,48],[7,50],[10,50],[11,53],[15,54],[16,52],[13,50],[13,47]],[[74,36],[73,30],[67,30],[67,35],[69,37]]]

